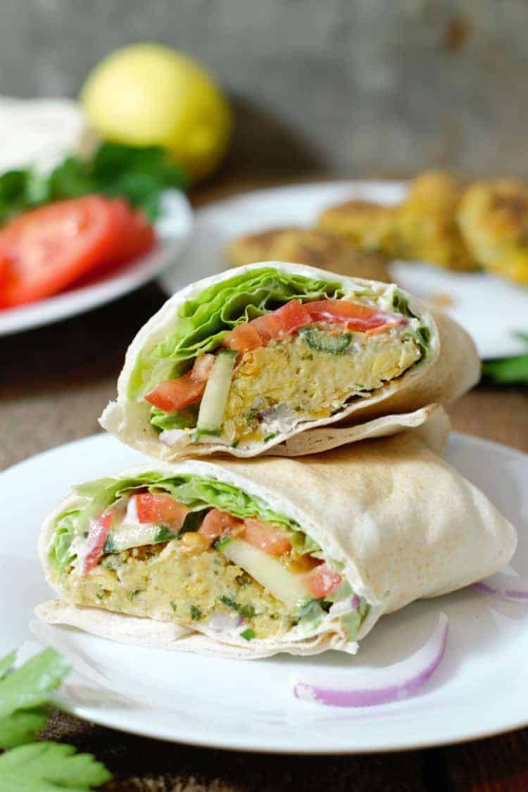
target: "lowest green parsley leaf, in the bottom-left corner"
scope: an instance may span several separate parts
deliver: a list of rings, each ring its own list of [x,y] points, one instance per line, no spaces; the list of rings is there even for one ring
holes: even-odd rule
[[[33,743],[0,756],[0,792],[85,792],[111,778],[101,762],[72,745]]]

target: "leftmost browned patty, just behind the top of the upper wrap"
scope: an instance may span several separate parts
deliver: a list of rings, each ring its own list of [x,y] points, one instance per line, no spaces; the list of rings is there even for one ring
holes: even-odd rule
[[[352,247],[336,234],[317,229],[269,228],[237,238],[227,256],[235,266],[257,261],[294,261],[340,275],[391,280],[381,257]]]

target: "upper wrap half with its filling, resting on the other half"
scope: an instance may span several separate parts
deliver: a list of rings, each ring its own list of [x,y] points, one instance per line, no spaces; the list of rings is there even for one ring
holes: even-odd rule
[[[361,440],[344,425],[445,404],[480,375],[467,333],[394,284],[268,262],[174,295],[128,348],[101,425],[171,461],[310,453]],[[368,432],[367,432],[368,434]]]

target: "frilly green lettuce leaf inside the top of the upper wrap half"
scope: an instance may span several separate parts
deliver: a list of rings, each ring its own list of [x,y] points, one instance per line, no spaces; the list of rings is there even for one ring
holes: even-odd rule
[[[163,379],[184,374],[192,360],[220,345],[231,329],[275,310],[291,299],[309,302],[344,295],[338,281],[314,280],[271,267],[242,272],[204,289],[184,303],[172,333],[150,352],[139,355],[128,397],[141,398]]]

